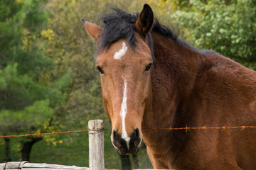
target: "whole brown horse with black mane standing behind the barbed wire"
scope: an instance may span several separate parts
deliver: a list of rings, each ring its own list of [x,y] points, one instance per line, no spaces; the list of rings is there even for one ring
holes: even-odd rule
[[[139,14],[114,11],[103,28],[82,21],[98,44],[117,152],[135,154],[143,139],[157,169],[256,169],[255,129],[159,130],[256,125],[256,72],[186,44],[146,4]]]

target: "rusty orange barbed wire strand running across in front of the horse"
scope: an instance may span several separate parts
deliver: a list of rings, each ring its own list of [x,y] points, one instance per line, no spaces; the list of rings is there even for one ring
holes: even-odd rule
[[[256,126],[223,126],[223,127],[207,127],[206,125],[203,127],[184,127],[184,128],[142,128],[143,130],[228,130],[228,129],[240,129],[240,130],[245,130],[245,129],[253,129],[256,128]],[[110,129],[103,129],[103,130],[112,130]],[[30,136],[43,136],[43,135],[58,135],[58,134],[71,134],[74,132],[89,132],[90,130],[68,130],[68,131],[63,131],[63,132],[39,132],[39,133],[28,133],[24,135],[0,135],[0,140],[1,138],[4,137],[30,137]],[[102,131],[102,130],[92,130],[92,131]]]

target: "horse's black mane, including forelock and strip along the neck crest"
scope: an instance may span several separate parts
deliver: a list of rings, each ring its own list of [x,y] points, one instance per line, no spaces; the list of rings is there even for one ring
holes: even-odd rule
[[[108,13],[102,15],[100,17],[100,21],[103,23],[103,31],[100,35],[100,44],[98,47],[98,51],[104,49],[105,47],[109,47],[112,43],[117,42],[118,40],[126,38],[129,42],[129,46],[134,49],[136,46],[136,38],[134,35],[134,27],[131,23],[135,23],[139,16],[139,13],[126,13],[116,6],[112,7],[114,13]],[[186,46],[192,50],[196,50],[198,52],[203,53],[213,53],[211,50],[201,51],[196,47],[188,45],[183,40],[178,39],[178,33],[174,33],[169,27],[162,25],[159,23],[157,18],[154,18],[154,25],[152,30],[160,35],[165,36],[166,38],[170,38],[171,40],[176,40],[183,46]],[[135,30],[136,31],[136,30]],[[149,34],[149,44],[152,48],[151,35]],[[152,49],[151,49],[152,51]],[[152,51],[153,52],[153,51]]]

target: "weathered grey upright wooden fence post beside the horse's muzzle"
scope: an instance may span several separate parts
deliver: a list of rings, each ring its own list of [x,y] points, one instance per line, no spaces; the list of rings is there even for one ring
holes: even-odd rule
[[[90,170],[105,169],[103,120],[90,120],[88,122],[88,130]]]

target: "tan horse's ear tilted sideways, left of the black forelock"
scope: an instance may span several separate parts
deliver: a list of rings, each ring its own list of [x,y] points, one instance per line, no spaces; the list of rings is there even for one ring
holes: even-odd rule
[[[87,33],[91,36],[91,38],[93,40],[95,40],[95,42],[98,42],[98,38],[100,36],[100,33],[102,32],[102,28],[100,28],[100,26],[97,26],[94,23],[90,23],[89,21],[87,21],[85,18],[81,19],[82,23],[85,24],[85,30],[87,31]]]

